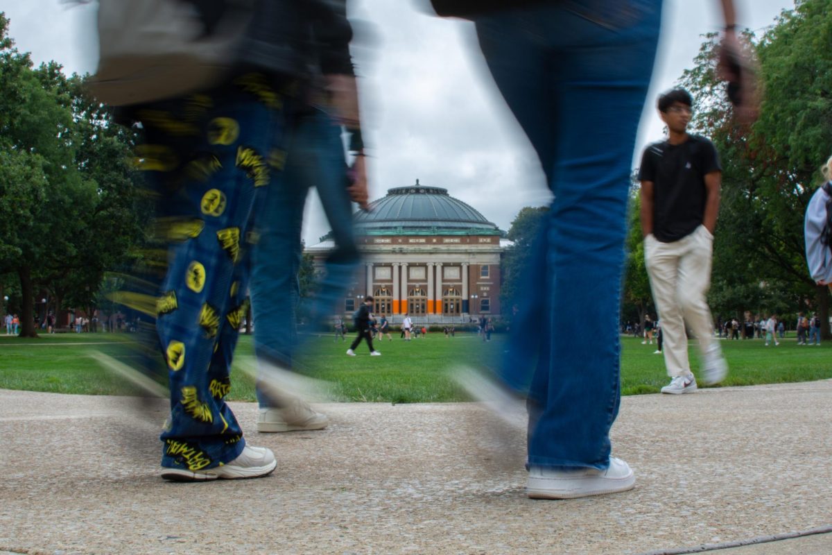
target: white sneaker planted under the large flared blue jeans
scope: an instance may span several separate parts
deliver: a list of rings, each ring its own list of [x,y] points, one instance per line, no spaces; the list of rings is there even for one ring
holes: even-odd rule
[[[526,493],[532,499],[572,499],[626,492],[635,486],[636,475],[632,468],[622,459],[610,457],[607,470],[552,470],[532,466],[528,471]]]

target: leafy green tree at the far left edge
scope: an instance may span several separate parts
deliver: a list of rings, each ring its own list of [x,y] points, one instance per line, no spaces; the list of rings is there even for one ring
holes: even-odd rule
[[[35,336],[39,287],[88,308],[141,228],[130,131],[84,95],[82,78],[32,67],[7,27],[0,13],[0,274],[17,275],[21,334]]]

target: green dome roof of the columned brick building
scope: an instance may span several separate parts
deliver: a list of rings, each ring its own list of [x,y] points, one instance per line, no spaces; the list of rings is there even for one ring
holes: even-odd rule
[[[365,235],[503,235],[497,225],[441,187],[395,187],[354,215]]]

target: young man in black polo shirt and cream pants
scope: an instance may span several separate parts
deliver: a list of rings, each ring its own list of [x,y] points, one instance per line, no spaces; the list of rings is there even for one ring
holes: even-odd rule
[[[668,136],[646,148],[639,171],[646,267],[671,377],[661,393],[668,394],[696,390],[687,357],[686,324],[699,339],[706,384],[717,384],[728,373],[705,299],[711,285],[722,168],[713,143],[687,132],[692,104],[691,95],[682,89],[659,97],[659,115]]]

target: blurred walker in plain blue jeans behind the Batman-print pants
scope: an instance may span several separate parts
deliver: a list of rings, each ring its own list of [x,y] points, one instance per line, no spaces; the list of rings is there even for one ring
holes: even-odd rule
[[[342,7],[344,2],[340,2]],[[330,55],[330,57],[333,57]],[[306,306],[312,325],[319,325],[334,312],[345,285],[352,280],[359,262],[352,226],[352,201],[364,208],[367,181],[364,145],[360,140],[358,96],[348,44],[341,45],[337,63],[326,67],[334,74],[319,75],[304,99],[285,152],[285,169],[273,180],[257,226],[251,273],[252,312],[255,320],[255,353],[261,374],[265,366],[292,370],[300,349],[296,314],[300,303],[298,272],[303,255],[301,228],[304,204],[311,187],[316,187],[333,230],[335,248],[327,257],[324,272],[316,283],[314,296]],[[321,71],[324,68],[320,68]],[[341,125],[351,136],[354,158],[351,176],[341,141]],[[273,156],[280,164],[283,156]],[[289,292],[288,302],[285,292]],[[336,340],[339,330],[336,328]],[[340,333],[344,339],[346,330]],[[280,398],[265,394],[263,376],[257,386],[260,411],[259,432],[323,429],[329,419],[295,394]]]

